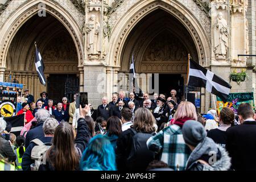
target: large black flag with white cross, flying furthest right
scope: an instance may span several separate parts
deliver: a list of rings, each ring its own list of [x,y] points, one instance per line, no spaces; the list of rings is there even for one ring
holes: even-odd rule
[[[189,60],[188,68],[189,86],[204,87],[208,92],[220,97],[222,101],[227,100],[231,89],[228,82],[208,69],[201,67],[195,61]]]

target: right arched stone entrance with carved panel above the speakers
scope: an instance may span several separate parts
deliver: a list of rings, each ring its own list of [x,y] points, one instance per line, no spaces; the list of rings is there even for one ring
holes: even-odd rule
[[[185,3],[185,2],[184,2]],[[127,5],[128,7],[128,5]],[[121,9],[124,11],[125,7]],[[128,8],[127,8],[128,9]],[[124,73],[121,85],[127,85],[131,56],[134,54],[137,73],[178,73],[186,82],[187,54],[203,66],[210,64],[210,42],[207,31],[185,6],[177,1],[139,1],[119,19],[110,17],[113,31],[110,35],[110,55],[106,69],[106,93],[118,89],[118,73]],[[209,21],[209,20],[208,20]],[[209,21],[210,22],[210,21]],[[208,23],[209,23],[208,22]],[[174,53],[175,49],[176,55]],[[170,51],[168,51],[170,50]],[[111,75],[111,74],[109,74]],[[126,89],[126,88],[125,88]],[[124,89],[124,90],[125,90]],[[204,89],[201,90],[204,93]],[[205,93],[204,93],[205,94]],[[205,109],[205,95],[201,96],[201,109]],[[110,97],[110,96],[109,96]]]

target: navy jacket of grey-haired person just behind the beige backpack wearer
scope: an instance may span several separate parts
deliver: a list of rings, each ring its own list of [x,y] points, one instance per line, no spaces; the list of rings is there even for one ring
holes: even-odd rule
[[[31,129],[28,131],[26,135],[26,142],[25,147],[27,148],[31,142],[31,140],[34,140],[35,138],[42,138],[44,137],[44,131],[43,131],[43,124],[44,122],[38,123],[34,129]]]

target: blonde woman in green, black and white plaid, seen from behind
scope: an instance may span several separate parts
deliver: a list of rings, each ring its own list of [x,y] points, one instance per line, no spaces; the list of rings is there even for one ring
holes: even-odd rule
[[[184,123],[191,119],[197,119],[196,107],[191,102],[183,101],[174,114],[173,125],[164,128],[147,140],[148,149],[156,152],[156,154],[161,154],[160,160],[174,170],[184,170],[191,154],[181,131]]]

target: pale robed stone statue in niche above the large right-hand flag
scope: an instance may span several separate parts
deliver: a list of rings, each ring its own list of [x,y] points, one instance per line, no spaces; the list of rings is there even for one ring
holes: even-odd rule
[[[214,30],[214,53],[216,58],[225,59],[228,52],[228,24],[222,13],[218,13]]]

